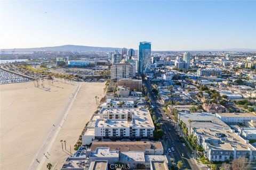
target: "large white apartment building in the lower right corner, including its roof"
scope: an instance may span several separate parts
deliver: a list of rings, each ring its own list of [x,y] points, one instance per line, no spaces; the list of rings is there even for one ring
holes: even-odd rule
[[[248,140],[239,137],[234,130],[196,129],[198,143],[204,148],[204,155],[210,161],[234,160],[246,157],[251,162],[256,160],[256,149]]]

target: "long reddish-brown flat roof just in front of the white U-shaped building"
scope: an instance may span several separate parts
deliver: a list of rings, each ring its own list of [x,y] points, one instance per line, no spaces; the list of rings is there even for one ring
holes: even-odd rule
[[[110,150],[119,151],[145,151],[146,149],[163,149],[161,142],[149,141],[93,141],[91,150],[99,147],[110,148]]]

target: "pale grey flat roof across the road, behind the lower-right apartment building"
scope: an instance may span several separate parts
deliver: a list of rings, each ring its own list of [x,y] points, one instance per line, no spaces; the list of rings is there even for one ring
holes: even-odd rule
[[[229,126],[211,113],[179,113],[179,118],[187,126],[191,120],[191,128],[226,128]]]

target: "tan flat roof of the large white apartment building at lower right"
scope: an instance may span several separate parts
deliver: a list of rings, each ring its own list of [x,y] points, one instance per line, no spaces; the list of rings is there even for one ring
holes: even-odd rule
[[[196,133],[201,135],[209,147],[213,150],[249,150],[256,149],[249,144],[249,141],[245,141],[243,138],[239,137],[237,133],[231,132],[227,129],[198,129]]]

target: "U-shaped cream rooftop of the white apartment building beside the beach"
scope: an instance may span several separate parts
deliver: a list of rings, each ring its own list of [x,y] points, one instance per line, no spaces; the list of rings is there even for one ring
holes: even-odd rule
[[[154,123],[151,119],[148,109],[142,108],[103,108],[100,114],[127,114],[132,112],[132,121],[127,120],[105,120],[99,119],[95,123],[95,127],[124,127],[128,128],[132,126],[133,128],[154,128]]]

